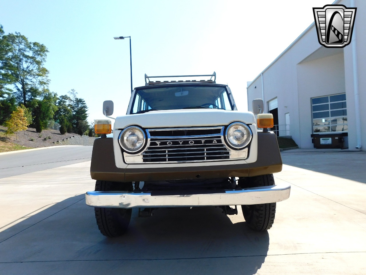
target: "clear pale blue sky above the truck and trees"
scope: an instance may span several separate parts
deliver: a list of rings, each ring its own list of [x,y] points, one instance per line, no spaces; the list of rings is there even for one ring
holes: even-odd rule
[[[239,110],[247,110],[252,81],[313,21],[306,1],[96,1],[0,0],[5,33],[20,32],[48,50],[50,90],[71,89],[85,99],[89,119],[104,118],[102,102],[126,113],[133,87],[147,75],[217,73]]]

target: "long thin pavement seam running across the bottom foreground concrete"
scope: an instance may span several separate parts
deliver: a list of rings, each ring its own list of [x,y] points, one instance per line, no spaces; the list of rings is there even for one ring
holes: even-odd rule
[[[343,251],[343,252],[308,252],[308,253],[288,253],[288,254],[262,254],[246,256],[217,256],[217,257],[190,257],[190,258],[164,258],[164,259],[103,259],[103,260],[53,260],[53,261],[14,261],[0,262],[0,264],[18,263],[57,263],[57,262],[82,262],[82,261],[171,261],[171,260],[202,260],[202,259],[224,259],[224,258],[249,258],[268,256],[291,256],[291,255],[312,255],[312,254],[342,254],[342,253],[366,253],[366,251]]]

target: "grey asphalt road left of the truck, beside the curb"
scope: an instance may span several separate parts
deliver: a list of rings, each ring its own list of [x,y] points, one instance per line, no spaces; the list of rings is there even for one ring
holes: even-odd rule
[[[89,161],[93,146],[52,146],[0,153],[0,179]]]

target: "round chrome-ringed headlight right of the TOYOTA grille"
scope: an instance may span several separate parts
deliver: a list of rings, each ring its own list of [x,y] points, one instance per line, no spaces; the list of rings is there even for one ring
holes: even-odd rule
[[[234,149],[241,149],[247,146],[251,140],[250,128],[241,122],[230,124],[226,130],[226,140],[228,145]]]

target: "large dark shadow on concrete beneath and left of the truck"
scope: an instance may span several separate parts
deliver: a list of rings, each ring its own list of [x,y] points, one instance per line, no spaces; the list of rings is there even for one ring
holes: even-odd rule
[[[251,231],[242,217],[233,224],[214,207],[161,208],[149,218],[138,218],[134,209],[128,232],[107,238],[84,198],[68,198],[0,232],[0,270],[252,275],[268,253],[268,232]]]

